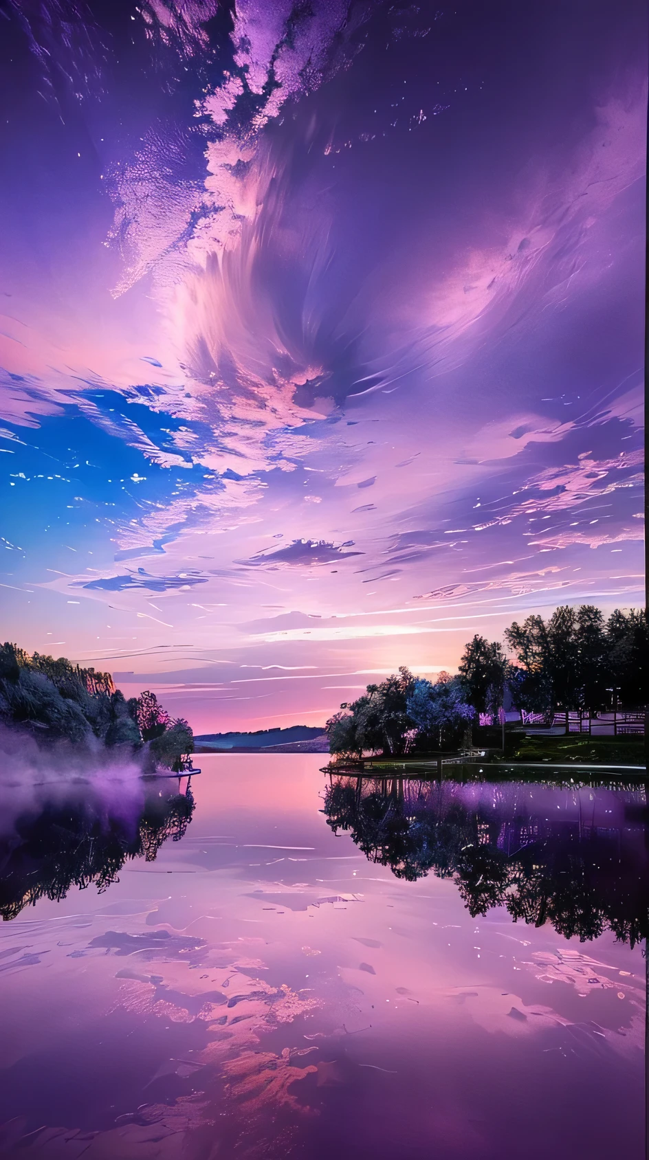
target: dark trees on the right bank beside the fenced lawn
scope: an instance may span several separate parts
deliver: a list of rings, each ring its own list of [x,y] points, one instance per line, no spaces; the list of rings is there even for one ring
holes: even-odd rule
[[[452,748],[481,713],[497,716],[505,704],[541,713],[597,713],[613,705],[649,701],[649,631],[644,609],[615,609],[605,619],[593,604],[556,608],[546,621],[533,614],[505,629],[500,641],[474,636],[457,675],[437,681],[406,668],[368,684],[356,701],[340,705],[326,725],[331,753],[362,756]]]

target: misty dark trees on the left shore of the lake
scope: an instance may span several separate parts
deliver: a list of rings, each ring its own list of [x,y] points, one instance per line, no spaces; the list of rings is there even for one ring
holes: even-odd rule
[[[124,747],[144,768],[181,773],[192,764],[194,734],[182,718],[171,718],[154,693],[127,699],[110,673],[81,668],[0,645],[0,723],[29,731],[37,742],[66,740],[92,749]]]

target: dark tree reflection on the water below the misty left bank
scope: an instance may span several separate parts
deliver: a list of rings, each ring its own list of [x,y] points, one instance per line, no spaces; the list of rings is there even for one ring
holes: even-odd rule
[[[159,783],[158,783],[159,784]],[[0,914],[15,919],[39,898],[59,901],[72,886],[101,893],[129,860],[153,862],[163,842],[179,841],[194,812],[185,793],[151,788],[136,806],[88,789],[82,797],[49,800],[19,815],[0,838]]]

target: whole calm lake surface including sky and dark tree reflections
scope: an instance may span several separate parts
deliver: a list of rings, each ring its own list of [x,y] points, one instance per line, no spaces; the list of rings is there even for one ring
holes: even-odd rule
[[[643,790],[322,763],[2,791],[2,1155],[640,1160]]]

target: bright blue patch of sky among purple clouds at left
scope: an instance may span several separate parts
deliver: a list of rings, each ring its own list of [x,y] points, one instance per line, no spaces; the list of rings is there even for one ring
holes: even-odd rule
[[[115,404],[113,421],[127,415],[157,447],[182,454],[172,435],[180,421],[128,405],[113,392],[102,396],[93,401],[101,401],[103,411]],[[38,428],[9,422],[2,427],[14,437],[0,438],[2,536],[9,545],[0,556],[0,571],[16,577],[28,572],[37,580],[45,579],[48,568],[84,568],[88,553],[100,556],[101,564],[95,563],[103,566],[117,552],[110,542],[117,528],[138,521],[151,503],[170,502],[174,493],[189,498],[199,488],[222,487],[218,477],[200,465],[187,470],[152,463],[138,448],[98,427],[75,404],[66,405],[63,415],[39,416]]]

